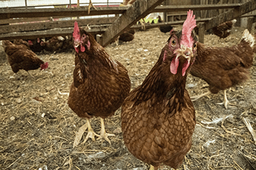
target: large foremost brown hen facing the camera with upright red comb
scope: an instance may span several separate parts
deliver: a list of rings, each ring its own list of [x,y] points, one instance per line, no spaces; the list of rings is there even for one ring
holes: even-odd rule
[[[171,31],[159,60],[122,105],[124,144],[151,168],[165,164],[177,169],[192,145],[195,109],[185,84],[196,56],[194,18],[188,11],[182,32]]]

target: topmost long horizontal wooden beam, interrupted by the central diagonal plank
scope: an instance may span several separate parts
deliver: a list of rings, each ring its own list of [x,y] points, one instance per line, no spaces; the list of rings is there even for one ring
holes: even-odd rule
[[[188,6],[157,6],[151,12],[168,12],[168,11],[188,11],[191,10],[210,10],[219,8],[236,8],[241,4],[209,4],[209,5],[188,5]],[[92,8],[88,14],[87,6],[80,8],[0,8],[1,19],[8,18],[37,18],[50,16],[95,16],[124,13],[127,6],[119,7],[97,7]]]

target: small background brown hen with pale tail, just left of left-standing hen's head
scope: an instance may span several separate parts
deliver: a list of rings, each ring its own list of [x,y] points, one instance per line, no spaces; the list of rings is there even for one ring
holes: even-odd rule
[[[49,52],[58,52],[61,50],[63,46],[65,38],[62,36],[58,37],[53,37],[50,38],[50,40],[47,40],[46,42],[42,42],[42,47],[44,50],[49,51]]]

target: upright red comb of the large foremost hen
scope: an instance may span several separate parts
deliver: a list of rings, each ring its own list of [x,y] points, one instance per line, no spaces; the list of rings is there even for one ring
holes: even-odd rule
[[[186,45],[187,47],[192,47],[193,45],[193,38],[191,37],[191,32],[193,28],[196,27],[195,17],[196,16],[193,15],[193,11],[189,10],[186,21],[183,23],[181,43],[183,45]]]

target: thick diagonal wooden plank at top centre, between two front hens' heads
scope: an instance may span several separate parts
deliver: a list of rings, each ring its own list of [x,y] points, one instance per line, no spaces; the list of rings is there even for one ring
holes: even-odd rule
[[[161,4],[164,0],[137,0],[125,11],[122,16],[119,16],[112,25],[107,28],[105,33],[102,35],[102,46],[107,46],[114,38],[126,28],[130,28],[134,23],[137,23],[139,19],[144,18],[149,14],[156,6]]]

